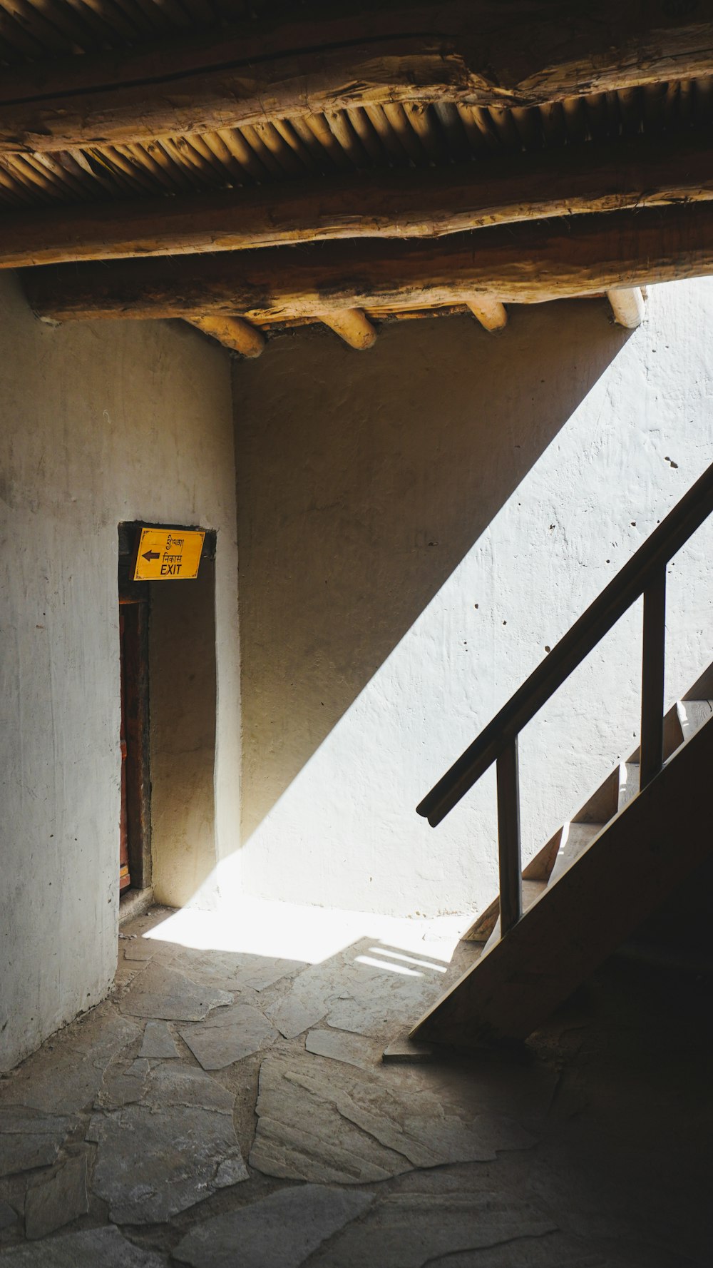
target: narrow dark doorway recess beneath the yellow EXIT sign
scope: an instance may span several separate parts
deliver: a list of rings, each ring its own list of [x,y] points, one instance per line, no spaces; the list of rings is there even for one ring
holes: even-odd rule
[[[134,581],[144,527],[170,531],[175,545],[184,534],[203,533],[198,576]],[[214,530],[119,525],[119,890],[156,884],[160,900],[175,907],[215,864],[214,558]]]

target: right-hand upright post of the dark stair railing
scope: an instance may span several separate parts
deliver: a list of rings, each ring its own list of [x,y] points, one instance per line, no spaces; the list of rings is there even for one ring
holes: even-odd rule
[[[662,564],[643,591],[640,789],[650,784],[664,762],[665,643],[666,564]]]

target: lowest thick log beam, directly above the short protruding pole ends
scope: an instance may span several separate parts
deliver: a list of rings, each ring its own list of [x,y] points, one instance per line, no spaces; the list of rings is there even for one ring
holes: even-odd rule
[[[20,270],[54,321],[242,313],[320,320],[342,308],[429,308],[496,295],[539,303],[713,274],[713,207],[512,224],[437,242],[320,242]]]

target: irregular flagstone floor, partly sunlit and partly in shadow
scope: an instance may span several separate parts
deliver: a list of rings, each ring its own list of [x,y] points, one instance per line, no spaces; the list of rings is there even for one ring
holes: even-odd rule
[[[709,1268],[709,980],[615,959],[523,1051],[382,1064],[457,935],[125,926],[111,997],[0,1079],[0,1265]]]

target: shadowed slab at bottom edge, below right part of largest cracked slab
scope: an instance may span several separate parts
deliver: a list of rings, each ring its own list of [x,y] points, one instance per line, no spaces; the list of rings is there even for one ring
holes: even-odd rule
[[[422,1268],[457,1252],[493,1248],[519,1238],[542,1238],[557,1225],[537,1207],[495,1194],[405,1193],[374,1206],[356,1225],[310,1260],[310,1268]],[[527,1260],[524,1260],[527,1262]],[[484,1260],[490,1264],[490,1259]]]

